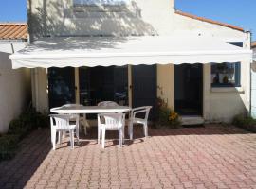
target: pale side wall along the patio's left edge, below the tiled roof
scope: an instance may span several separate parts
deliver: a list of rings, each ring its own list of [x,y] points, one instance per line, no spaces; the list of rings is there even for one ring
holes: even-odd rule
[[[25,44],[13,45],[15,49],[25,46]],[[6,132],[9,121],[18,117],[27,108],[31,96],[30,71],[11,68],[9,46],[10,44],[0,44],[0,133]],[[9,53],[1,52],[3,49]]]

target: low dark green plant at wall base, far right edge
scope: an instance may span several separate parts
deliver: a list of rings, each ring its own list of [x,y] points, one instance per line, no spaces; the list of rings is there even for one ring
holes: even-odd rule
[[[256,120],[242,114],[236,115],[233,118],[233,125],[256,132]]]

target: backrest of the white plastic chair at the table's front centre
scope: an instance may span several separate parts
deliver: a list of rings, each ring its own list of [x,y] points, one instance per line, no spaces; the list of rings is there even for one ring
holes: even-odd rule
[[[101,113],[98,114],[98,124],[105,129],[119,129],[125,125],[125,113]]]

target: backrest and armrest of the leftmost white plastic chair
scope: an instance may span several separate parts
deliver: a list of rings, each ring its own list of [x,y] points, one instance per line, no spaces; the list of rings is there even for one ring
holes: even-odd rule
[[[79,124],[79,115],[76,114],[51,114],[50,126],[55,129],[70,129],[70,120],[76,120],[76,124]]]

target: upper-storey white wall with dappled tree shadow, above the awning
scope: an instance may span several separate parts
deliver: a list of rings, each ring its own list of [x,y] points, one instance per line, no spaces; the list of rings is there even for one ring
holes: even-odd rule
[[[70,35],[169,35],[174,26],[173,7],[173,0],[131,0],[126,6],[104,8],[74,7],[73,0],[28,0],[29,33],[32,39]]]

